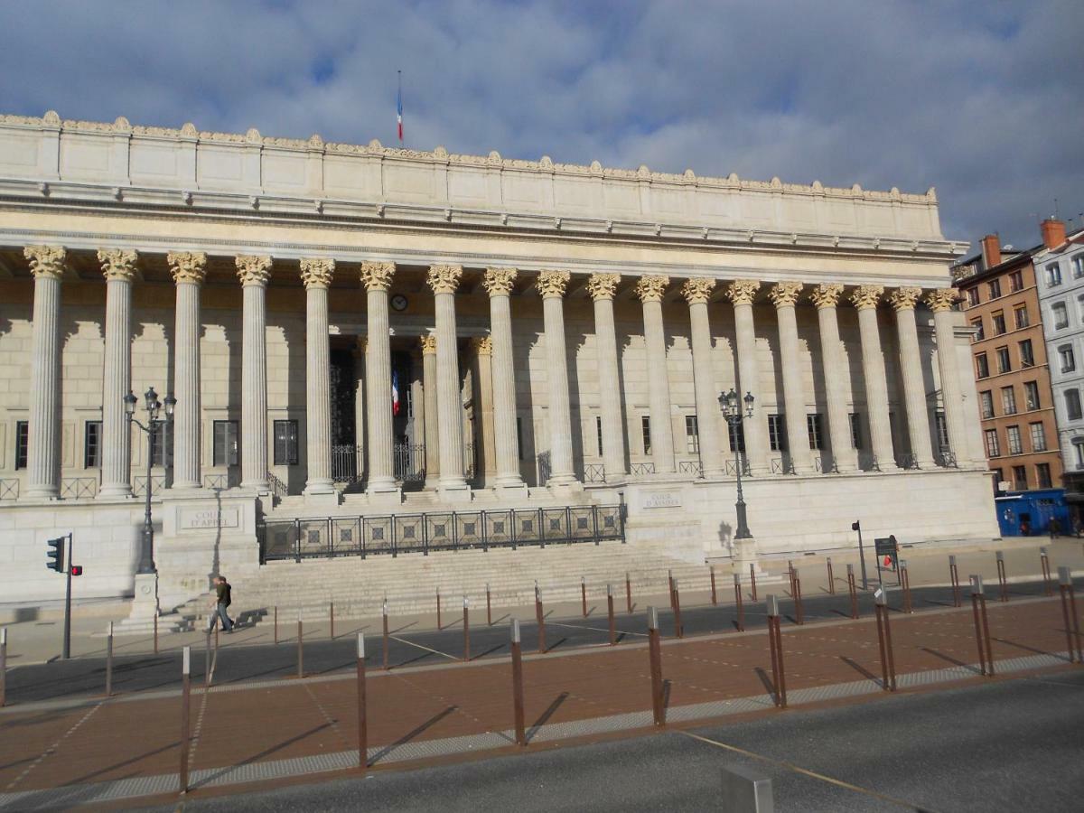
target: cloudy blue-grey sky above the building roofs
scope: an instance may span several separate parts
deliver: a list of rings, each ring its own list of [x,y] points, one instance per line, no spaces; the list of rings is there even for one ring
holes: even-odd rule
[[[1084,224],[1084,0],[0,4],[0,112],[925,192]]]

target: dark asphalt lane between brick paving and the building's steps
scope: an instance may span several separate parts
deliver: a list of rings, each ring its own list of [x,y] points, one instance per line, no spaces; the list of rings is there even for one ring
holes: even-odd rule
[[[785,585],[772,588],[780,597],[780,611],[793,619],[793,602],[784,594]],[[988,596],[993,597],[996,585],[988,585]],[[733,588],[731,588],[733,591]],[[967,586],[963,586],[964,601],[967,599]],[[761,590],[760,598],[764,591]],[[1011,584],[1014,596],[1042,595],[1042,582]],[[912,591],[914,608],[917,612],[924,609],[952,606],[952,590],[945,588],[920,588]],[[732,592],[721,590],[720,597],[733,596]],[[863,617],[873,615],[872,592],[860,592],[860,611]],[[899,609],[901,595],[898,589],[892,589],[889,603]],[[616,599],[618,606],[617,629],[627,640],[642,635],[647,629],[646,607],[636,607],[632,615],[624,611],[623,596]],[[547,618],[545,641],[547,650],[564,650],[578,646],[606,644],[609,642],[609,628],[605,602],[589,603],[591,614],[588,618]],[[844,592],[836,595],[818,593],[803,598],[804,619],[809,622],[850,617],[850,598]],[[530,616],[528,618],[527,616]],[[765,622],[763,601],[745,606],[746,629],[763,628]],[[538,628],[530,608],[520,608],[522,644],[525,651],[538,648]],[[721,604],[718,607],[699,606],[682,609],[682,625],[686,634],[709,632],[726,632],[735,629],[737,612],[733,604]],[[508,654],[507,614],[502,610],[494,614],[501,617],[500,623],[486,627],[485,614],[477,610],[472,614],[470,654],[473,659],[505,656]],[[663,635],[672,635],[674,618],[669,607],[659,608],[659,623]],[[392,668],[402,666],[426,666],[456,660],[463,655],[462,617],[450,622],[443,630],[413,632],[411,629],[398,629],[395,619],[391,624],[391,640],[388,648],[388,663]],[[294,635],[293,637],[287,637]],[[278,645],[237,645],[231,646],[229,635],[219,638],[219,650],[212,659],[212,678],[216,685],[287,676],[297,673],[297,642],[293,630],[281,630],[282,638]],[[380,630],[371,627],[366,634],[366,663],[376,668],[383,664]],[[197,647],[193,651],[194,681],[204,679],[205,650]],[[307,675],[328,674],[340,670],[352,669],[354,666],[354,641],[352,635],[343,635],[335,641],[326,636],[309,637],[305,641],[304,664]],[[114,693],[130,693],[149,689],[176,688],[180,685],[181,654],[177,650],[160,655],[125,655],[117,656],[113,664]],[[49,700],[72,698],[78,696],[101,695],[105,686],[104,658],[74,658],[68,661],[54,661],[36,666],[16,667],[8,674],[8,702],[11,705],[31,700]]]

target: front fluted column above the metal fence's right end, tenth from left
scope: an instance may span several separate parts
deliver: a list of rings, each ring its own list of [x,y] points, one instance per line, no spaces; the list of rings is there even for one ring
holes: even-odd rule
[[[595,304],[595,348],[598,353],[598,411],[603,420],[603,467],[606,481],[629,474],[624,456],[624,420],[621,417],[621,379],[618,375],[614,294],[620,274],[592,274],[588,292]]]

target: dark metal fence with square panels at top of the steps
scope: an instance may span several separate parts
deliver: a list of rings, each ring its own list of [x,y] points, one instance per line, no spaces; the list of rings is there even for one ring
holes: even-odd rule
[[[268,520],[257,529],[262,562],[620,540],[623,505],[450,511]]]

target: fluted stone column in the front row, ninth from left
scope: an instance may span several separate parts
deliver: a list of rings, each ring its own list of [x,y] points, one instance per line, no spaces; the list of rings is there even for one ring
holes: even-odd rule
[[[568,395],[568,358],[565,353],[565,291],[568,271],[542,271],[538,289],[542,294],[545,328],[546,401],[550,413],[550,482],[576,482],[572,464],[572,410]]]

